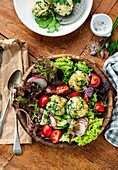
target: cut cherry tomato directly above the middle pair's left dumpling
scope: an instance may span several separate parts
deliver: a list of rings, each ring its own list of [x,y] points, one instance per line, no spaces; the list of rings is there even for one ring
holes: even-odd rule
[[[62,84],[57,86],[56,88],[56,94],[65,96],[69,93],[69,87],[66,84]]]

